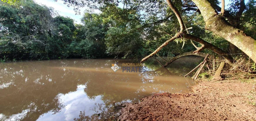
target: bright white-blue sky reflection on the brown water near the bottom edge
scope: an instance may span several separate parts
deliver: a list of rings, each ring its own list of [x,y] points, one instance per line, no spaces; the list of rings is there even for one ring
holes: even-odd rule
[[[77,91],[68,93],[66,95],[61,94],[60,99],[63,100],[64,105],[66,105],[64,109],[55,115],[52,115],[51,112],[48,112],[38,120],[73,120],[74,118],[78,117],[81,110],[85,110],[85,112],[87,112],[86,114],[89,116],[97,113],[92,110],[92,108],[97,110],[97,105],[94,104],[104,103],[100,99],[101,96],[98,95],[95,97],[95,99],[89,99],[88,96],[84,93],[84,88],[84,85],[78,85]],[[98,113],[100,113],[100,111]]]

